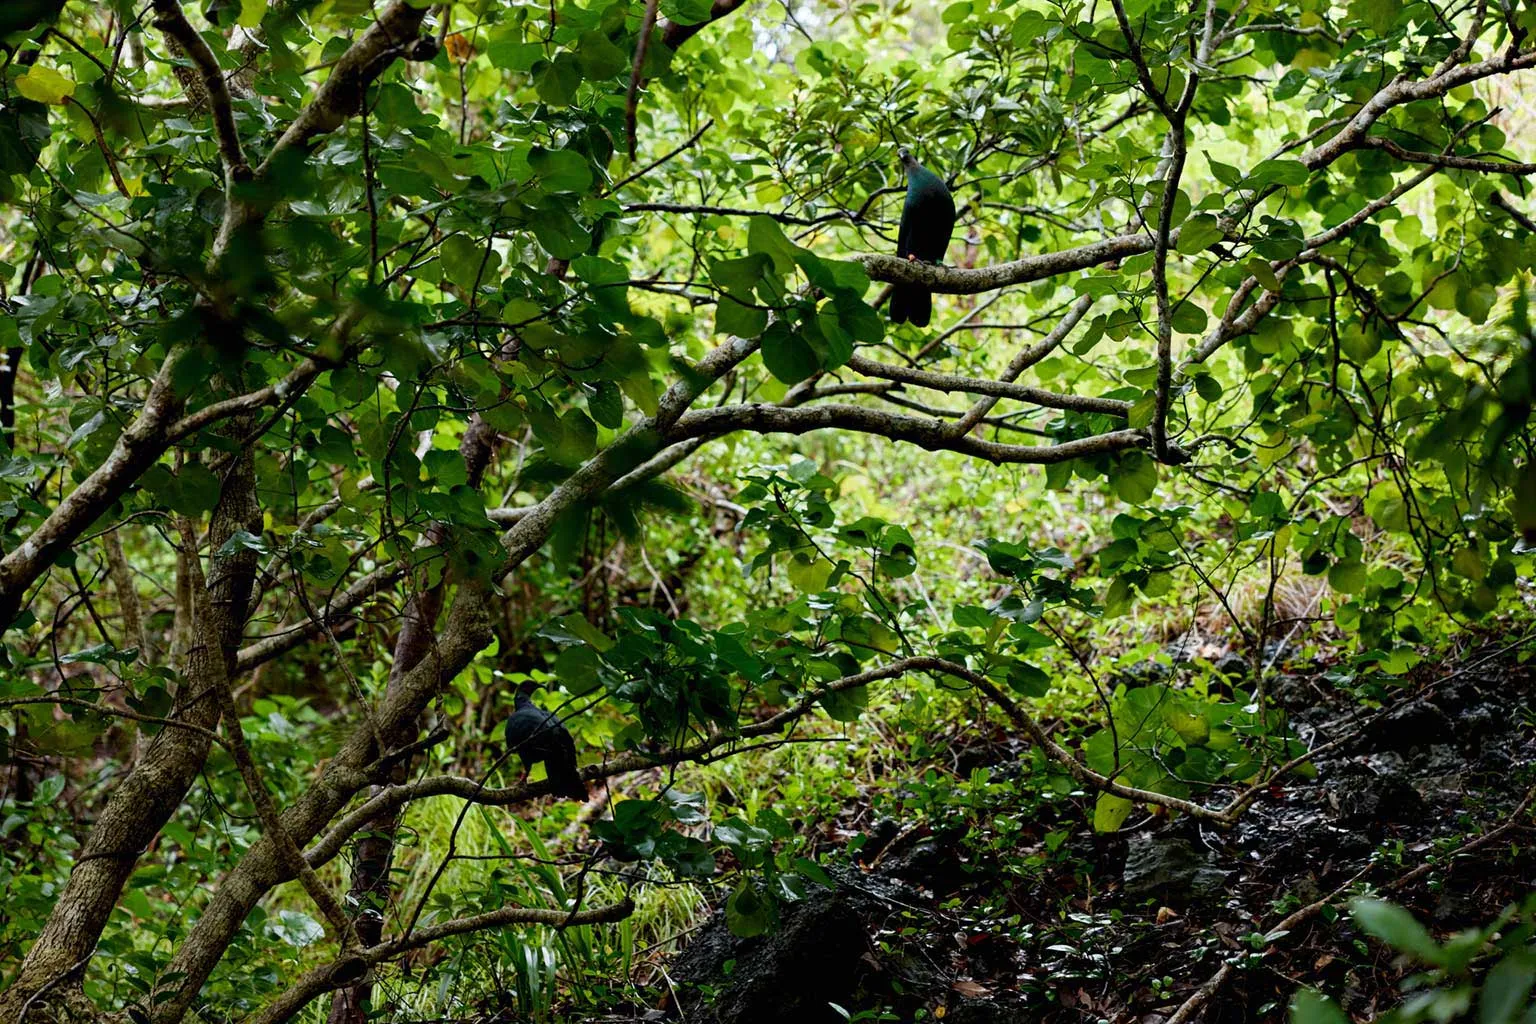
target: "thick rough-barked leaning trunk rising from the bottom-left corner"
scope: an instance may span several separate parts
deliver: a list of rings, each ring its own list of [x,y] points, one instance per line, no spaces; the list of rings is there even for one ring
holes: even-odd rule
[[[249,419],[232,419],[227,434],[235,439],[244,436],[253,427]],[[207,588],[212,611],[207,622],[200,623],[186,652],[177,705],[170,712],[184,728],[166,726],[154,738],[91,827],[69,883],[28,950],[15,983],[0,993],[0,1019],[6,1022],[20,1024],[23,1012],[37,1013],[55,999],[58,1006],[49,1016],[100,1019],[100,1013],[86,1006],[78,993],[80,978],[138,857],[203,771],[220,717],[220,702],[210,683],[224,680],[235,668],[257,568],[257,554],[247,545],[233,545],[226,553],[224,542],[241,530],[261,531],[249,447],[235,456],[224,476],[209,524]],[[189,553],[189,557],[197,557],[197,553]]]

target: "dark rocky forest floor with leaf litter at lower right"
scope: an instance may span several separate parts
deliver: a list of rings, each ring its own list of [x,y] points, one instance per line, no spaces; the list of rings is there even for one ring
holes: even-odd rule
[[[1309,748],[1336,746],[1230,831],[1158,814],[1097,835],[1083,794],[980,827],[851,808],[820,831],[834,889],[766,936],[716,917],[667,967],[676,998],[624,1019],[1281,1021],[1301,986],[1372,1019],[1413,967],[1352,926],[1352,895],[1444,936],[1536,887],[1533,680],[1490,642],[1372,708],[1292,666],[1275,700]],[[965,735],[938,768],[1031,771],[1017,737]]]

